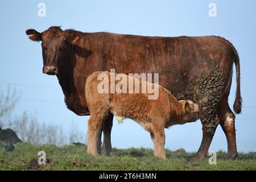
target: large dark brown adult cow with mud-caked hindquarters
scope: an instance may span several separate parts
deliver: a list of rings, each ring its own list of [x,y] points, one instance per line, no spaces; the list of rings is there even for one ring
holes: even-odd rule
[[[42,33],[27,30],[34,41],[42,41],[43,73],[56,75],[67,107],[78,115],[89,115],[84,95],[86,78],[95,71],[159,73],[159,84],[178,100],[199,104],[203,139],[197,158],[207,155],[220,123],[228,141],[228,158],[237,155],[235,116],[228,104],[233,64],[237,91],[234,111],[241,112],[240,61],[236,49],[218,36],[176,38],[83,33],[50,27]],[[104,122],[104,154],[111,151],[113,115]]]

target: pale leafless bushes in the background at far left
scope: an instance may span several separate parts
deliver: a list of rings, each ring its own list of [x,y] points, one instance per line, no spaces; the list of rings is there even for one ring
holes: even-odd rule
[[[64,134],[61,126],[46,125],[35,117],[28,116],[26,112],[18,117],[11,117],[18,100],[15,89],[9,87],[6,93],[0,91],[0,127],[13,129],[23,142],[61,146],[82,139],[73,122],[69,133]]]

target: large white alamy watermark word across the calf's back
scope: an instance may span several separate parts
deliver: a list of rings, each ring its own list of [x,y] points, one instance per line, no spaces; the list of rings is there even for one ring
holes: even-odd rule
[[[159,73],[129,73],[127,76],[115,74],[115,69],[110,69],[110,78],[106,72],[102,72],[97,80],[101,81],[97,86],[98,93],[147,93],[148,100],[156,100],[159,96]]]

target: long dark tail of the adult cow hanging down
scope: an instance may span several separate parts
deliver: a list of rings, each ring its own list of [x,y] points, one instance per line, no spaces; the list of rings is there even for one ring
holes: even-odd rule
[[[240,114],[242,109],[242,97],[241,97],[241,90],[240,90],[240,60],[239,60],[239,56],[236,48],[233,48],[232,52],[234,55],[234,64],[236,65],[236,75],[237,75],[236,100],[234,101],[233,109],[236,114]]]

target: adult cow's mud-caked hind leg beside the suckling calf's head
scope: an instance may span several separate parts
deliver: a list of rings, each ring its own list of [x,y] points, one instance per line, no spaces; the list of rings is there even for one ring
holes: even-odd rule
[[[208,75],[197,78],[196,93],[200,97],[200,120],[203,125],[203,139],[194,159],[201,159],[207,155],[213,135],[218,126],[218,104],[224,92],[224,71],[218,65],[210,69]]]

